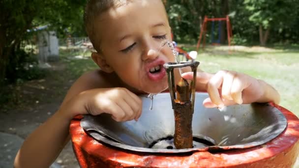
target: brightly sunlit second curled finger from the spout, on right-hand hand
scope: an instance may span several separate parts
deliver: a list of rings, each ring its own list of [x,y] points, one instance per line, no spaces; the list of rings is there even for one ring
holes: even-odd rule
[[[227,100],[233,100],[231,96],[231,88],[234,81],[236,73],[235,72],[227,72],[225,73],[223,77],[223,84],[222,84],[222,90],[221,95],[223,98]]]

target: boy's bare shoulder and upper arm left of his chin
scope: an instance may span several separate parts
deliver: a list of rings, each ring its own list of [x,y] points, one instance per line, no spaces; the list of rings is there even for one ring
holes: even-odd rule
[[[94,70],[83,74],[68,90],[63,102],[73,96],[90,89],[116,87],[118,85],[117,75],[108,74],[101,70]]]

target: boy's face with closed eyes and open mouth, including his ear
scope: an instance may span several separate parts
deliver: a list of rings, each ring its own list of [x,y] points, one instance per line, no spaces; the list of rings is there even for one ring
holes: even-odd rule
[[[127,1],[127,0],[125,0]],[[116,72],[130,86],[148,93],[168,87],[166,62],[174,62],[168,19],[161,0],[132,0],[111,8],[95,21],[101,53],[93,59],[106,72]]]

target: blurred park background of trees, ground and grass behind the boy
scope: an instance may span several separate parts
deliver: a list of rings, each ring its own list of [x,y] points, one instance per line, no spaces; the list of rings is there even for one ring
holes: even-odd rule
[[[280,105],[299,116],[299,0],[162,1],[174,40],[187,52],[196,50],[205,16],[228,15],[232,46],[226,22],[208,22],[200,68],[263,79],[281,94]],[[97,68],[83,25],[85,3],[0,0],[0,168],[11,167],[22,140],[56,112],[69,86]],[[78,167],[70,144],[53,167]]]

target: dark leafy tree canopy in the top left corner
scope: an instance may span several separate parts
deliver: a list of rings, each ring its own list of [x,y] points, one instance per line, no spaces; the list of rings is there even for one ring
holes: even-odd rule
[[[49,24],[60,33],[65,28],[82,32],[85,3],[84,0],[0,0],[0,86],[4,84],[7,68],[13,70],[19,62],[20,44],[29,35],[28,29]]]

